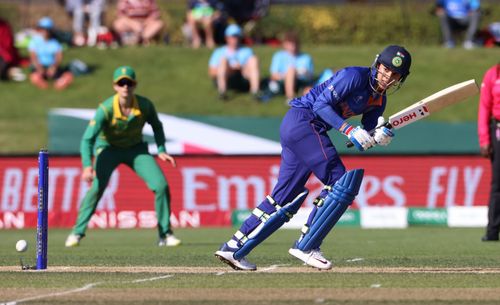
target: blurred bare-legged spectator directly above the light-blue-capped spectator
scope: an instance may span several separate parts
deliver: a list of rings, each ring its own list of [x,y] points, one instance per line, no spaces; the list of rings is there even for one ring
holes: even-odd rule
[[[205,45],[208,48],[215,46],[214,22],[220,17],[220,5],[217,0],[190,0],[186,16],[187,25],[191,34],[191,46],[195,49],[201,46],[200,28],[203,29]]]

